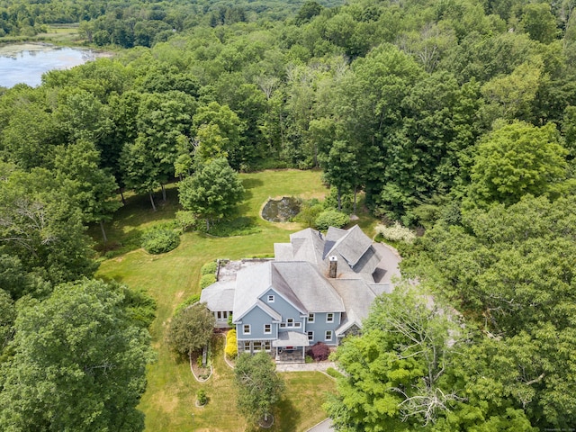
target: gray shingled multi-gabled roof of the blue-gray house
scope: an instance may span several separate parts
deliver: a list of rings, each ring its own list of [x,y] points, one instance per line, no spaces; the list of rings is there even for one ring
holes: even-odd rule
[[[314,229],[302,229],[290,240],[275,244],[275,261],[238,271],[232,309],[235,320],[256,307],[280,320],[278,312],[259,300],[274,289],[302,313],[345,312],[337,330],[342,335],[353,325],[362,327],[376,295],[390,293],[390,277],[399,274],[400,257],[392,249],[373,245],[358,226],[330,228],[325,237]],[[338,258],[336,279],[326,275],[330,256]],[[378,284],[381,281],[385,284]]]

